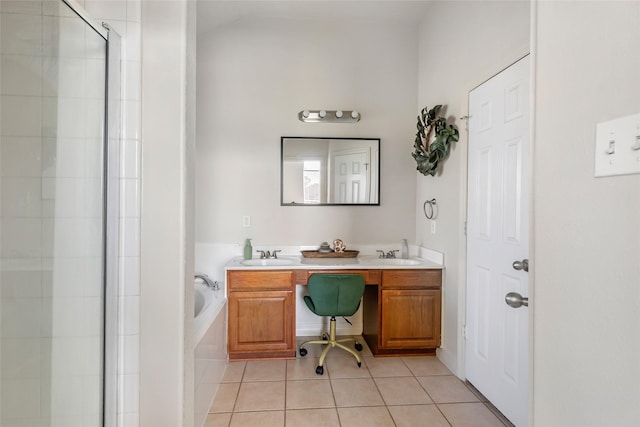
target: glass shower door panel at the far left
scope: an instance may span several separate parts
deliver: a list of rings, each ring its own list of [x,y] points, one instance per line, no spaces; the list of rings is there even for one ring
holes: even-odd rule
[[[103,425],[107,44],[0,5],[0,425]]]

